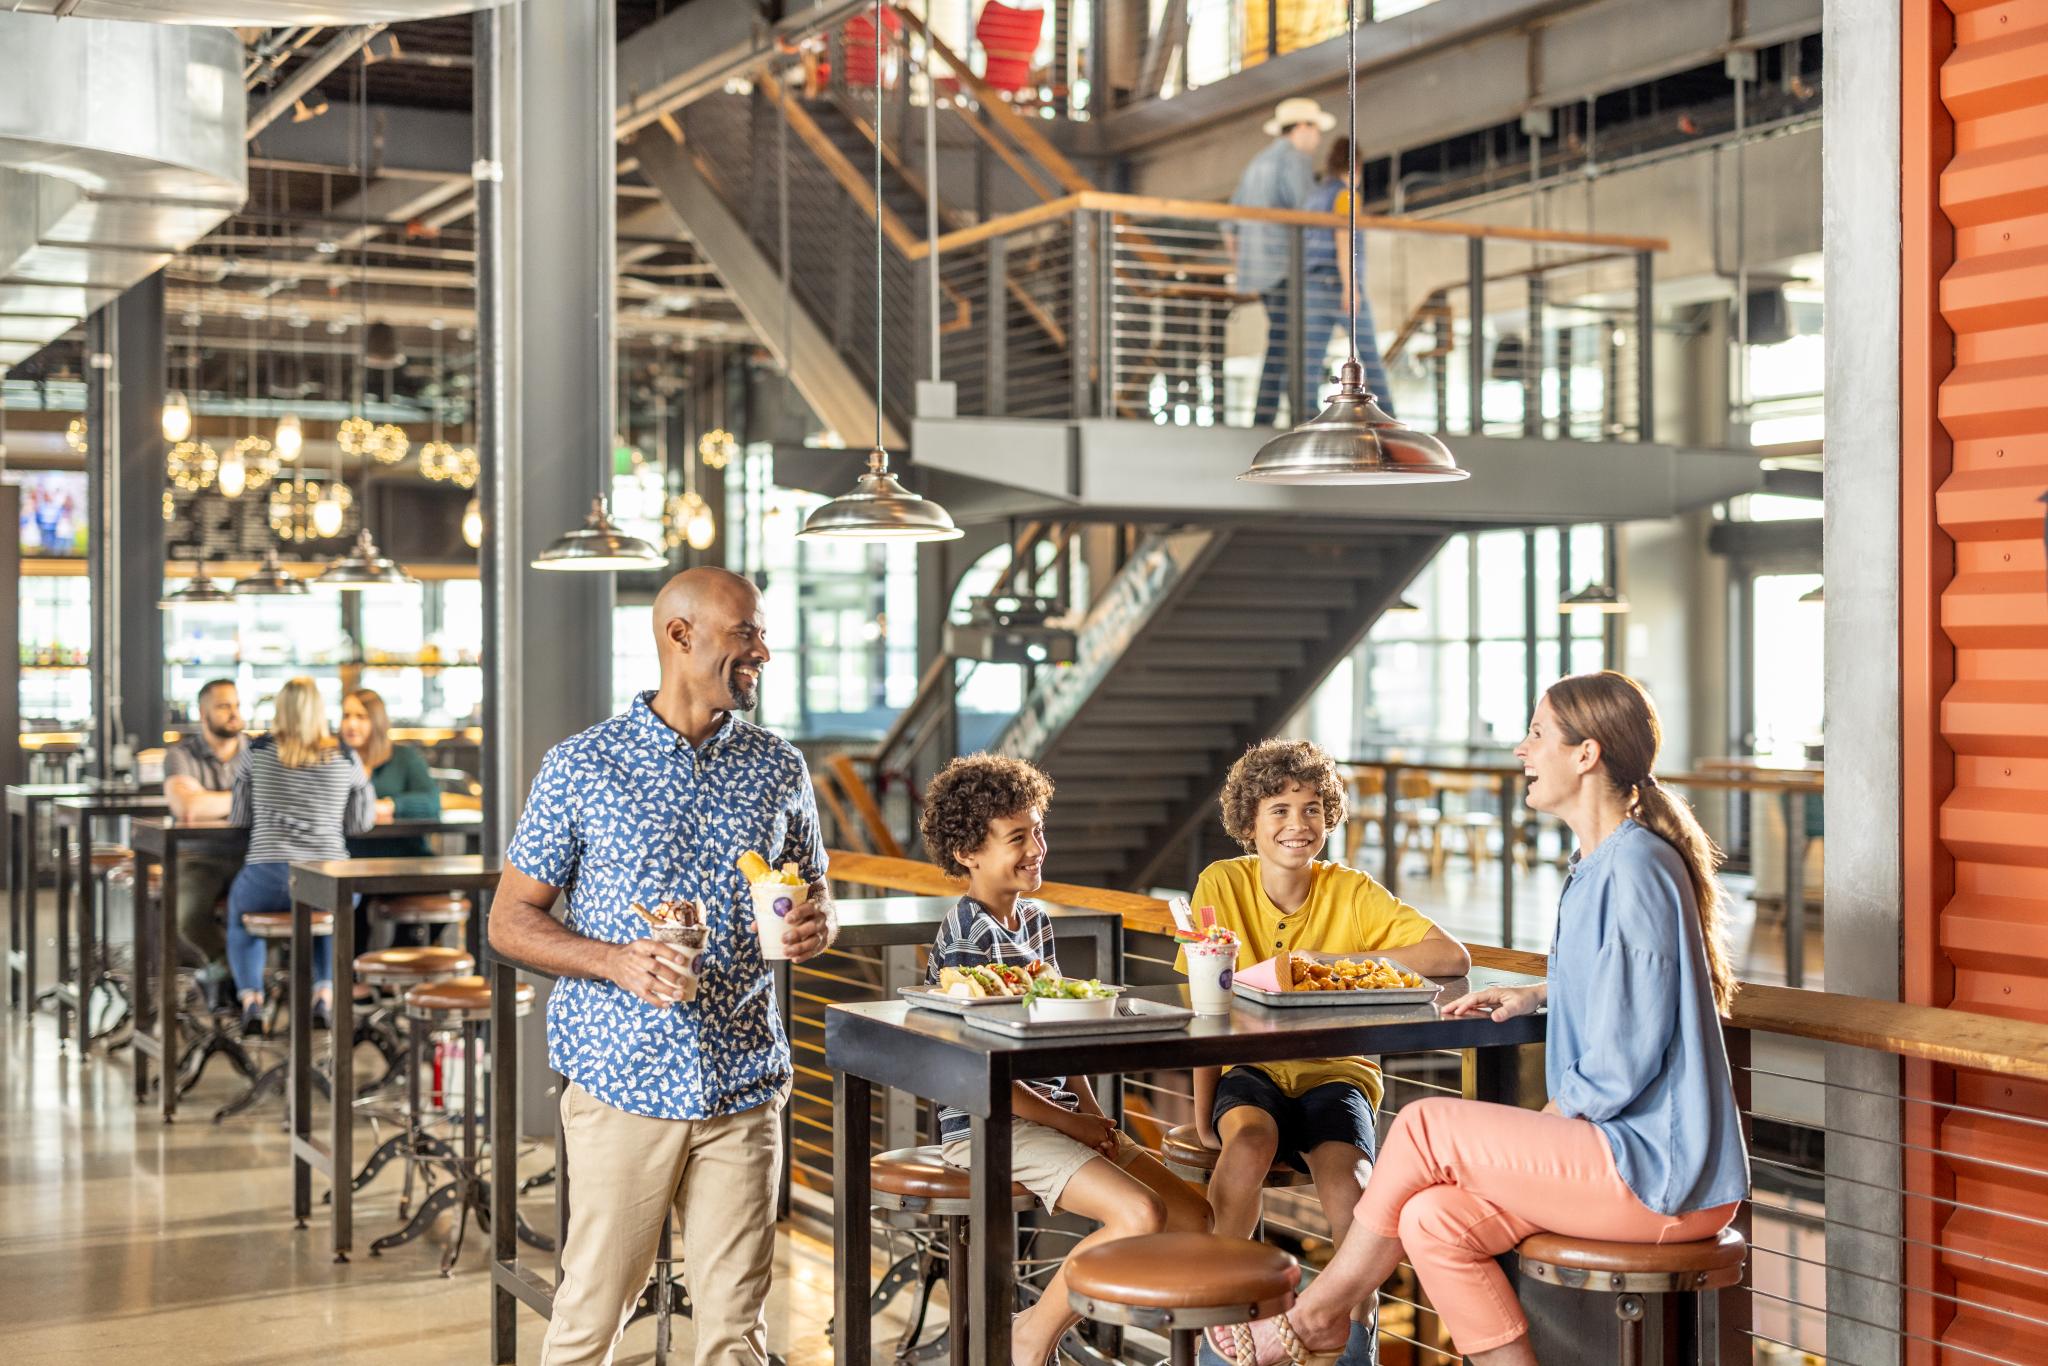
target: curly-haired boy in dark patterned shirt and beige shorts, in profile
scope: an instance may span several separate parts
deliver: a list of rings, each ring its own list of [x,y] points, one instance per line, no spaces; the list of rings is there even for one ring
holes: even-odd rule
[[[932,862],[967,879],[967,895],[946,913],[932,944],[926,983],[946,967],[1034,961],[1059,971],[1053,922],[1030,893],[1044,885],[1044,809],[1053,780],[1022,760],[971,754],[952,760],[924,793],[924,848]],[[1087,1077],[1018,1081],[1010,1098],[1010,1171],[1049,1210],[1102,1227],[1079,1247],[1141,1233],[1206,1231],[1208,1204],[1159,1159],[1120,1130]],[[940,1153],[969,1165],[965,1110],[938,1112]],[[1079,1321],[1067,1305],[1061,1268],[1038,1300],[1010,1327],[1012,1362],[1044,1362]]]

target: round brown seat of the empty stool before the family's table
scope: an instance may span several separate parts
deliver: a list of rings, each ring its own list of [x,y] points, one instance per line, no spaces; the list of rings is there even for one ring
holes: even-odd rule
[[[1278,1247],[1221,1233],[1147,1233],[1067,1257],[1071,1294],[1135,1309],[1270,1307],[1288,1300],[1298,1278]]]

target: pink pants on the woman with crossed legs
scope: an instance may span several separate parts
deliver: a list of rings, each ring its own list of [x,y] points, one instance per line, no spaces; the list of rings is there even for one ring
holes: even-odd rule
[[[1399,1237],[1458,1352],[1528,1331],[1493,1262],[1532,1233],[1608,1243],[1692,1243],[1735,1204],[1659,1214],[1628,1190],[1591,1120],[1432,1096],[1403,1108],[1358,1200],[1358,1229]]]

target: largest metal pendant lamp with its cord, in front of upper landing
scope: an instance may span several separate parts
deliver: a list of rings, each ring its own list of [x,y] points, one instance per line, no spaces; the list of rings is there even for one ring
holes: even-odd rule
[[[1358,260],[1358,195],[1364,188],[1358,174],[1358,0],[1343,6],[1343,90],[1346,90],[1346,156],[1352,160],[1350,236],[1343,250]],[[1337,371],[1337,391],[1323,412],[1292,432],[1276,436],[1251,457],[1251,469],[1237,475],[1249,483],[1421,483],[1427,479],[1464,479],[1450,446],[1427,432],[1405,428],[1386,416],[1358,360],[1358,295],[1366,289],[1364,274],[1352,270],[1350,324],[1346,342],[1350,354]],[[1477,340],[1479,319],[1473,319]]]

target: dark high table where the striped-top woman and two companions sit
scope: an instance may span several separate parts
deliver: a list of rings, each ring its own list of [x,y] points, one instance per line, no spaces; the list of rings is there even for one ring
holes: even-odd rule
[[[483,844],[483,815],[479,811],[444,811],[424,821],[385,821],[371,831],[373,838],[406,836],[455,836],[475,854]],[[172,821],[137,819],[129,827],[129,848],[135,850],[135,887],[147,887],[150,864],[164,866],[162,893],[135,899],[135,1100],[150,1098],[150,1065],[156,1059],[162,1073],[164,1122],[178,1118],[178,1010],[174,985],[178,981],[178,854],[184,850],[217,850],[240,854],[248,848],[250,831],[223,821]],[[145,971],[145,963],[156,963],[156,975]],[[164,1008],[164,1004],[170,1008]]]

